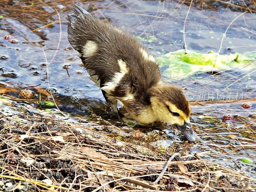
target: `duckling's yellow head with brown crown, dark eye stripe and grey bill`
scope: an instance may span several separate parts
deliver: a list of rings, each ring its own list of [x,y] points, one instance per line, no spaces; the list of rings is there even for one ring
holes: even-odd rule
[[[189,141],[198,138],[190,124],[189,102],[179,87],[167,84],[152,87],[150,102],[154,114],[160,121],[176,125]]]

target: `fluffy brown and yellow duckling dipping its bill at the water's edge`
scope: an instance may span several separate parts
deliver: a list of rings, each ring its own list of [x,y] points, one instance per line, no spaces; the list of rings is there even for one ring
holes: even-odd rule
[[[176,127],[189,140],[198,136],[192,129],[191,108],[179,87],[161,81],[153,55],[137,39],[120,28],[104,23],[80,6],[68,15],[68,40],[110,107],[119,100],[129,118],[139,124],[162,121]]]

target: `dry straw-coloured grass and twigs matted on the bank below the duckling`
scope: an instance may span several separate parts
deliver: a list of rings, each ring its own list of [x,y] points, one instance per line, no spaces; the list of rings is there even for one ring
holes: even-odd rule
[[[203,156],[210,152],[188,156],[177,148],[161,152],[147,144],[120,141],[105,131],[113,128],[125,131],[125,127],[88,125],[78,122],[80,116],[67,119],[58,113],[50,114],[31,107],[29,110],[30,114],[33,111],[33,116],[23,110],[2,114],[0,119],[3,124],[0,177],[4,183],[11,182],[14,188],[22,186],[23,191],[138,192],[256,189],[255,178],[205,160]],[[221,136],[210,137],[217,140]],[[240,145],[233,148],[256,150],[256,144],[240,140]],[[152,184],[168,157],[175,152],[183,156],[172,161],[160,181]],[[52,183],[44,183],[45,179]],[[12,187],[8,190],[12,191]]]

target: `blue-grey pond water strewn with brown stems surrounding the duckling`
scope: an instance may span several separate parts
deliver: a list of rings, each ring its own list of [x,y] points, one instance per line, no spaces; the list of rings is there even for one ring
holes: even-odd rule
[[[67,14],[70,12],[69,6],[74,3],[137,36],[148,51],[156,56],[183,49],[184,37],[186,48],[190,51],[218,53],[220,50],[221,55],[256,53],[255,4],[250,1],[245,4],[239,0],[193,1],[189,8],[190,2],[58,0],[53,3],[48,0],[2,0],[0,85],[24,87],[41,84],[39,87],[42,88],[53,87],[60,94],[58,100],[62,100],[62,109],[69,112],[86,111],[86,105],[90,106],[90,102],[102,105],[103,111],[107,108],[100,102],[104,98],[81,66],[77,52],[68,43]],[[214,153],[208,156],[209,159],[222,161],[230,158],[225,163],[228,162],[234,167],[236,165],[232,159],[256,159],[255,124],[246,125],[255,120],[252,114],[256,113],[254,65],[255,61],[243,69],[220,70],[219,75],[197,72],[179,80],[167,75],[163,77],[172,84],[182,86],[191,100],[221,100],[220,95],[225,95],[224,99],[239,100],[235,103],[192,106],[192,122],[204,140],[190,151],[211,150]],[[164,73],[166,68],[162,67],[161,72]],[[77,102],[71,106],[72,99]],[[89,102],[82,103],[82,99],[88,99]],[[250,108],[243,108],[244,102],[248,102]],[[228,114],[232,118],[226,122],[225,116]],[[241,134],[249,131],[249,135],[254,134],[254,137],[242,134],[243,136],[239,136],[240,140],[231,140],[225,135],[224,139],[224,136],[215,135],[229,131]],[[175,137],[172,132],[170,134]],[[254,146],[252,150],[246,147],[241,150],[241,146],[248,142]],[[232,148],[229,144],[239,150],[230,152]],[[248,167],[245,170],[248,171]]]

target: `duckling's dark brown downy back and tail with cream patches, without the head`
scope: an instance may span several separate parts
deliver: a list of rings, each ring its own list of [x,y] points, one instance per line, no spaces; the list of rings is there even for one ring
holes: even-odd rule
[[[154,57],[132,36],[76,7],[68,16],[68,40],[93,81],[100,81],[106,86],[102,89],[116,97],[127,93],[143,97],[160,81]]]

